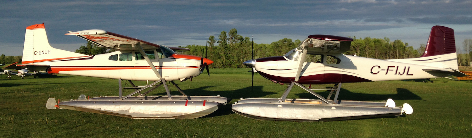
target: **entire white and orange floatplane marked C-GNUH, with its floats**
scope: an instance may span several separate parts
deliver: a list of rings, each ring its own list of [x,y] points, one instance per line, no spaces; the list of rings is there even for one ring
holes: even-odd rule
[[[200,75],[213,61],[174,51],[187,48],[167,47],[130,38],[104,30],[76,31],[76,35],[101,47],[117,50],[107,54],[84,55],[51,47],[43,24],[26,28],[22,65],[12,64],[8,69],[26,69],[48,73],[103,77],[118,79],[119,96],[85,98],[56,103],[50,98],[46,107],[56,107],[134,119],[191,119],[208,115],[227,104],[228,98],[220,96],[187,96],[174,80],[185,81]],[[122,87],[128,80],[133,87]],[[131,80],[154,81],[146,86],[135,86]],[[182,96],[170,95],[168,84],[176,86]],[[145,96],[162,85],[167,96]],[[149,88],[149,89],[148,89]],[[124,89],[134,92],[123,96]],[[146,90],[147,91],[143,91]],[[137,96],[133,96],[139,93]]]

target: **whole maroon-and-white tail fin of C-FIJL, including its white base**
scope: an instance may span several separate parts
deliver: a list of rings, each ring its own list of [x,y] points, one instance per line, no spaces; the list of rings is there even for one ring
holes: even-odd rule
[[[421,57],[388,61],[458,70],[454,30],[444,26],[433,26],[426,50]]]

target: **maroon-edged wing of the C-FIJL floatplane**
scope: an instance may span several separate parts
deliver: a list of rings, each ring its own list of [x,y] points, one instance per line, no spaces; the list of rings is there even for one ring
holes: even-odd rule
[[[308,36],[297,49],[305,49],[308,54],[314,53],[344,53],[351,48],[352,38],[330,36],[330,35],[311,35]]]

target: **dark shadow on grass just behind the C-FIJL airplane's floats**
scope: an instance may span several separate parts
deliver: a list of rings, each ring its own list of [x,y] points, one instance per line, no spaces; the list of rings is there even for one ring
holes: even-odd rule
[[[317,92],[324,98],[328,97],[330,91]],[[309,92],[295,94],[303,99],[317,99]],[[396,88],[396,94],[370,94],[370,93],[355,93],[341,88],[338,100],[361,100],[361,101],[375,101],[375,100],[422,100],[422,98],[408,89]],[[331,100],[334,99],[334,94],[331,95]]]

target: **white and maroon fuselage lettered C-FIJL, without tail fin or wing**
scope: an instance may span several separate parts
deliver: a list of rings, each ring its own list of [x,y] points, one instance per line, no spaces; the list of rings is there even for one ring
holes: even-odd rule
[[[292,54],[293,55],[293,54]],[[435,67],[371,59],[345,54],[316,54],[312,60],[305,60],[300,84],[333,84],[371,81],[388,81],[447,77],[423,71]],[[295,80],[298,57],[290,52],[284,56],[266,57],[255,60],[255,69],[261,76],[278,83],[291,83]]]

